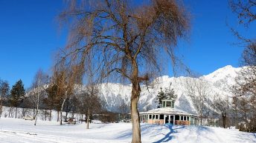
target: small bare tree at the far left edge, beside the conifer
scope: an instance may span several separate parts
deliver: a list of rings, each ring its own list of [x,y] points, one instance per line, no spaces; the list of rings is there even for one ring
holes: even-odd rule
[[[7,81],[1,81],[0,79],[0,118],[1,118],[1,112],[3,107],[3,100],[6,98],[7,93],[9,92],[10,87]]]

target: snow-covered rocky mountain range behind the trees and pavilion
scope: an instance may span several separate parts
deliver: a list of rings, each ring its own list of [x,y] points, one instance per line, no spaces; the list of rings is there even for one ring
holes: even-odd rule
[[[220,98],[231,96],[228,87],[231,87],[235,83],[234,78],[237,76],[237,72],[239,72],[240,69],[241,67],[235,68],[228,65],[215,70],[213,73],[199,77],[199,79],[202,79],[208,86],[208,98],[211,100],[216,93],[219,93]],[[188,80],[198,79],[183,76],[176,78],[161,76],[153,81],[153,88],[147,88],[142,85],[141,97],[138,103],[139,110],[144,111],[156,108],[156,96],[160,91],[160,87],[169,87],[171,82],[172,88],[178,95],[175,107],[185,110],[188,113],[196,112],[186,90],[185,83]],[[108,110],[117,112],[121,104],[129,104],[132,90],[131,85],[115,83],[100,84],[100,89],[102,99],[106,101]]]

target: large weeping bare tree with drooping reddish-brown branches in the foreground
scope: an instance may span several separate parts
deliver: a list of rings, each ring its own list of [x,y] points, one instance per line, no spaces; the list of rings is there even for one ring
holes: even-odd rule
[[[92,65],[92,73],[100,79],[127,79],[132,84],[132,142],[141,142],[140,84],[156,76],[153,73],[161,73],[161,67],[166,67],[164,58],[170,57],[173,66],[178,64],[174,47],[189,27],[185,8],[175,0],[143,4],[73,0],[68,6],[60,14],[70,24],[64,56],[82,67]]]

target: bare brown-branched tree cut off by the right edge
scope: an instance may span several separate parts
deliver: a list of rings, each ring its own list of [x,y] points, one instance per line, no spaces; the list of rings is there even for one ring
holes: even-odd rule
[[[254,27],[256,20],[255,0],[230,0],[231,10],[239,19],[239,24],[250,30]],[[245,47],[242,54],[243,67],[235,79],[236,84],[232,87],[236,102],[236,112],[243,115],[243,122],[246,122],[246,131],[256,130],[256,40],[255,35],[248,37],[243,33],[231,28],[234,36],[240,40],[240,45]],[[248,129],[249,126],[249,129]]]

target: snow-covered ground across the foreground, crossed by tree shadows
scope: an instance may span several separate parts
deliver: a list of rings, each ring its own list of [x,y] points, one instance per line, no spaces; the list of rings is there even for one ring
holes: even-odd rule
[[[131,142],[130,123],[64,124],[24,119],[0,119],[0,142]],[[219,127],[168,126],[141,124],[142,142],[175,143],[253,143],[255,133]]]

